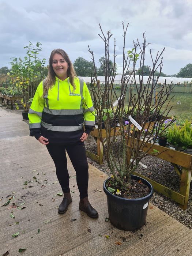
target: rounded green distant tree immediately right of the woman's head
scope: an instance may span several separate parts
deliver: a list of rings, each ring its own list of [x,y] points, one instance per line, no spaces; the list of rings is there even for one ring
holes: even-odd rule
[[[92,61],[85,60],[83,57],[78,57],[73,65],[77,76],[91,76],[93,70]]]

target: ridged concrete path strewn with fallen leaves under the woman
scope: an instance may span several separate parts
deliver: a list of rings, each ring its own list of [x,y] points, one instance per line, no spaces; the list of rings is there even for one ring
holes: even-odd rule
[[[89,199],[99,218],[91,219],[79,211],[70,161],[73,202],[64,215],[59,215],[62,196],[57,193],[62,191],[54,170],[46,147],[29,136],[22,116],[0,108],[0,256],[8,255],[6,252],[11,256],[192,254],[192,230],[152,204],[146,226],[138,231],[118,230],[105,222],[108,210],[102,187],[107,176],[92,165]],[[19,253],[19,249],[26,250]]]

